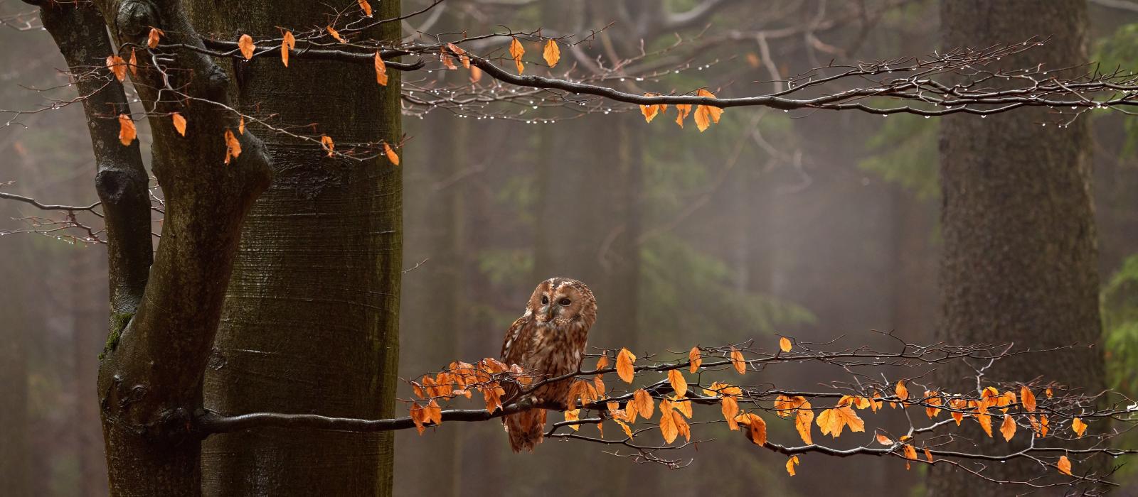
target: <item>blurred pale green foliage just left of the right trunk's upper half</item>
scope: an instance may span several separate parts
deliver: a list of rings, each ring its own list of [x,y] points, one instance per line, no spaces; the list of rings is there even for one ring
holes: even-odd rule
[[[935,119],[921,116],[892,116],[867,144],[873,154],[858,162],[858,168],[896,183],[921,200],[940,194],[938,178]]]

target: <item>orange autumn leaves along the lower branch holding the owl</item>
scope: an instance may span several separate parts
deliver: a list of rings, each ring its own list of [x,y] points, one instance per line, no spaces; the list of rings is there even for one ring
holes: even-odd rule
[[[783,353],[790,352],[792,346],[793,344],[789,338],[783,337],[780,339],[778,348]],[[727,353],[727,357],[736,372],[740,374],[747,372],[748,362],[741,351],[732,347]],[[692,347],[687,354],[687,360],[688,371],[696,373],[703,364],[700,348]],[[616,354],[616,371],[622,381],[627,384],[634,381],[636,373],[635,362],[636,355],[627,348],[621,348]],[[601,371],[608,367],[609,356],[604,355],[597,360],[595,370]],[[457,395],[464,395],[470,398],[471,390],[480,390],[486,401],[487,411],[493,413],[495,410],[501,408],[503,390],[495,380],[495,374],[497,373],[506,373],[522,385],[529,385],[531,381],[531,378],[526,377],[522,369],[517,364],[508,367],[493,359],[485,359],[477,367],[463,362],[454,362],[451,364],[450,371],[438,373],[435,378],[423,377],[421,382],[412,382],[415,394],[420,398],[423,398],[423,401],[414,402],[411,407],[411,418],[419,432],[423,431],[423,427],[427,423],[438,424],[442,422],[442,410],[437,403],[438,398],[452,398]],[[622,407],[620,402],[612,399],[605,402],[609,418],[624,430],[627,437],[632,438],[634,436],[632,426],[638,418],[652,420],[655,412],[659,411],[658,427],[665,443],[671,444],[681,436],[687,441],[691,440],[688,420],[692,419],[692,402],[686,398],[690,390],[687,380],[678,368],[671,368],[667,370],[667,381],[671,386],[673,395],[659,399],[659,410],[657,410],[655,399],[643,388],[634,390]],[[745,412],[739,406],[739,397],[743,395],[742,388],[716,381],[709,387],[703,388],[702,393],[704,397],[719,399],[720,414],[731,430],[743,430],[744,436],[756,445],[764,446],[767,443],[766,421],[758,414]],[[1046,394],[1047,397],[1053,396],[1049,388],[1046,390]],[[578,405],[584,406],[604,402],[605,398],[603,373],[596,373],[592,380],[572,380],[566,398],[568,408],[564,412],[564,420],[569,422],[579,421],[580,407]],[[814,424],[818,426],[822,435],[830,435],[833,438],[841,436],[842,431],[847,428],[851,432],[865,432],[865,420],[858,415],[857,411],[868,408],[872,412],[877,412],[877,410],[883,408],[887,404],[891,408],[924,405],[925,414],[930,419],[935,419],[941,411],[947,410],[957,426],[963,422],[964,418],[974,418],[989,437],[992,436],[991,418],[993,415],[1003,415],[1004,421],[999,430],[1005,440],[1011,440],[1015,435],[1016,423],[1013,420],[1013,414],[1008,414],[1008,410],[1016,403],[1022,407],[1022,412],[1019,415],[1028,416],[1036,437],[1046,437],[1048,432],[1047,415],[1038,413],[1036,396],[1026,386],[1021,387],[1019,393],[1005,391],[1003,394],[995,387],[987,387],[982,390],[979,399],[947,396],[935,390],[926,390],[923,397],[910,399],[909,390],[905,381],[901,380],[893,388],[893,396],[891,398],[881,391],[874,391],[872,396],[844,395],[833,407],[822,408],[816,413],[815,407],[810,405],[810,402],[806,397],[780,395],[774,401],[774,411],[780,418],[793,419],[799,437],[807,445],[814,445],[811,433]],[[996,413],[996,410],[1000,412]],[[604,430],[602,423],[603,420],[595,424],[603,437]],[[576,431],[579,430],[580,426],[569,424],[569,428]],[[1071,429],[1081,437],[1087,430],[1087,423],[1079,418],[1074,418]],[[897,449],[901,452],[901,455],[906,460],[906,469],[909,469],[910,461],[918,460],[918,447],[914,445],[913,437],[906,435],[893,440],[888,435],[877,432],[875,433],[875,438],[877,443],[885,446],[897,446],[899,444]],[[922,450],[924,458],[932,463],[932,452],[929,448],[922,448]],[[786,472],[790,475],[794,475],[795,467],[799,464],[799,456],[791,456],[786,461]],[[1071,462],[1066,456],[1061,457],[1056,466],[1063,474],[1071,475]]]

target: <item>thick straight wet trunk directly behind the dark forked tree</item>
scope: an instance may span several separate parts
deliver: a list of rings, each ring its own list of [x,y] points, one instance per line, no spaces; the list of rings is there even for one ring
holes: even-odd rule
[[[327,6],[305,0],[190,1],[204,32],[236,40],[305,28]],[[376,6],[376,18],[399,14]],[[396,40],[398,23],[369,37]],[[297,59],[238,62],[239,107],[316,123],[337,143],[398,143],[399,79],[370,66]],[[258,130],[253,127],[253,130]],[[205,406],[388,418],[394,412],[402,269],[402,172],[386,159],[327,158],[319,145],[262,132],[274,179],[256,202],[226,293],[204,384]],[[209,438],[205,495],[388,495],[393,437],[264,429]]]

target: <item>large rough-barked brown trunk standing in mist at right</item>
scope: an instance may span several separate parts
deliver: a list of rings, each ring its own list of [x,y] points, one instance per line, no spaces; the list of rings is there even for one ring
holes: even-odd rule
[[[1000,67],[1058,69],[1086,61],[1086,2],[1081,0],[951,0],[941,5],[945,48],[988,47],[1047,37],[1044,47],[1005,57]],[[997,79],[998,82],[998,79]],[[1088,118],[1058,128],[1048,109],[989,116],[958,115],[941,125],[943,193],[942,322],[953,344],[1014,342],[1016,348],[1097,344],[1098,275],[1089,187]],[[974,389],[975,373],[957,364],[941,370],[941,385]],[[983,382],[1054,379],[1097,393],[1103,387],[1100,348],[1077,348],[1003,360]],[[974,423],[973,423],[974,424]],[[979,433],[986,453],[1022,447]],[[1091,467],[1078,457],[1079,472]],[[1024,480],[1038,464],[989,465],[990,478]],[[929,486],[935,496],[1016,495],[1021,486],[996,486],[938,464]]]

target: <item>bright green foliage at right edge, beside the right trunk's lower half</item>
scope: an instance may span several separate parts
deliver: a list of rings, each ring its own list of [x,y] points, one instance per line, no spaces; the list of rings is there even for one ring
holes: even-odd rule
[[[1106,284],[1102,312],[1110,386],[1132,397],[1138,393],[1138,254]]]

